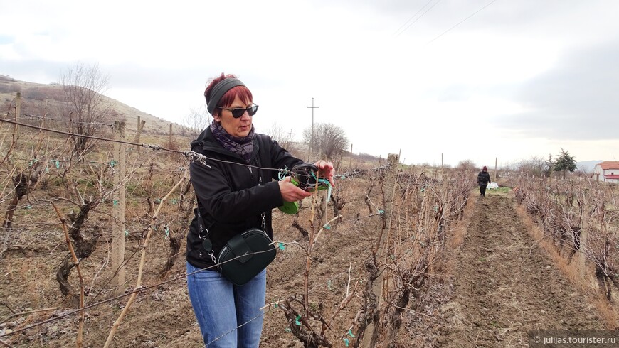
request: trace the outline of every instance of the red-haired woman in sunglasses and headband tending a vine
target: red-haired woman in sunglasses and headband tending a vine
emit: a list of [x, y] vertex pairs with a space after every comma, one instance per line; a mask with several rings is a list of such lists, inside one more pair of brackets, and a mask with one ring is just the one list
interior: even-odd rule
[[[266, 270], [243, 286], [233, 285], [217, 272], [205, 249], [205, 234], [214, 255], [232, 236], [250, 228], [265, 229], [273, 239], [271, 210], [312, 193], [293, 185], [290, 177], [272, 181], [277, 171], [268, 168], [292, 168], [303, 161], [254, 132], [258, 105], [243, 82], [222, 73], [208, 84], [204, 97], [213, 123], [191, 142], [191, 150], [212, 159], [206, 160], [208, 166], [196, 162], [189, 167], [198, 201], [187, 235], [189, 298], [208, 347], [258, 347]], [[333, 183], [332, 163], [315, 165]]]

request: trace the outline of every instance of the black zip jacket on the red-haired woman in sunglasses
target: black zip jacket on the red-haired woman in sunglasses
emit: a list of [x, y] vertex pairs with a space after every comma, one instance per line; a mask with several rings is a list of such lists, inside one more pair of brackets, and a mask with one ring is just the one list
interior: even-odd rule
[[[215, 256], [235, 234], [250, 228], [261, 228], [265, 213], [266, 232], [273, 239], [271, 210], [284, 204], [277, 180], [277, 170], [266, 168], [292, 168], [302, 163], [269, 136], [254, 134], [250, 165], [236, 153], [223, 148], [207, 127], [195, 141], [191, 150], [208, 158], [205, 167], [199, 162], [189, 165], [191, 184], [194, 186], [203, 227], [213, 243]], [[262, 184], [260, 185], [260, 181]], [[187, 234], [187, 261], [199, 268], [213, 266], [211, 256], [202, 246], [199, 235], [197, 211]], [[211, 268], [215, 271], [215, 268]]]

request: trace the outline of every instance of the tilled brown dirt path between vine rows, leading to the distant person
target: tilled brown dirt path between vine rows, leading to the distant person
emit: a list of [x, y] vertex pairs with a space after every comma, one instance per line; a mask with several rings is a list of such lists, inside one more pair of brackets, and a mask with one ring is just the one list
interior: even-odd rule
[[604, 329], [595, 305], [535, 244], [510, 197], [475, 202], [454, 265], [439, 347], [527, 347], [529, 330]]

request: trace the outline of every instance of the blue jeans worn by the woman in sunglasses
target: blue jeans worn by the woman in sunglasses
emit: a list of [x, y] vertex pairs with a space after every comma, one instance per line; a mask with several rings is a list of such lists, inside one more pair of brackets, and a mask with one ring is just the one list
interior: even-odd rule
[[[263, 330], [266, 270], [236, 286], [215, 271], [187, 263], [187, 288], [204, 344], [213, 347], [258, 347]], [[194, 273], [194, 274], [190, 274]]]

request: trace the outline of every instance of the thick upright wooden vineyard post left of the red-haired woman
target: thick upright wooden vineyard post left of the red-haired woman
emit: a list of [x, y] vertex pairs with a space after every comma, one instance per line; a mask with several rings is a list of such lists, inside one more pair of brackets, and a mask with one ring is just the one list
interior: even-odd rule
[[[114, 139], [125, 140], [125, 122], [114, 121]], [[112, 278], [112, 286], [115, 295], [125, 293], [125, 144], [114, 143], [114, 201], [112, 213], [115, 223], [112, 227], [112, 270], [115, 276]]]

